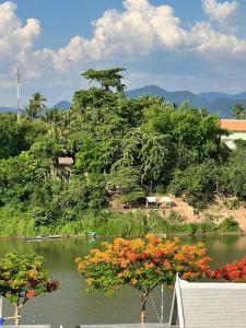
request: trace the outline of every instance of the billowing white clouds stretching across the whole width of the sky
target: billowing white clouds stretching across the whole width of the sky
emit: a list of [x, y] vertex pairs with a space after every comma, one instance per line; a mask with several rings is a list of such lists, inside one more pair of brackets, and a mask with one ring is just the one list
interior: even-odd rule
[[[25, 70], [25, 78], [49, 85], [66, 85], [87, 67], [110, 60], [126, 62], [150, 58], [156, 51], [165, 58], [168, 54], [196, 54], [204, 58], [244, 58], [246, 39], [214, 28], [211, 22], [198, 22], [184, 28], [169, 5], [152, 5], [148, 0], [124, 0], [124, 10], [107, 10], [93, 23], [93, 36], [86, 39], [74, 36], [58, 50], [34, 50], [40, 34], [40, 24], [30, 19], [24, 24], [16, 15], [16, 4], [0, 5], [0, 68]], [[238, 3], [203, 0], [203, 10], [213, 22], [231, 19]], [[43, 81], [43, 82], [42, 82]]]

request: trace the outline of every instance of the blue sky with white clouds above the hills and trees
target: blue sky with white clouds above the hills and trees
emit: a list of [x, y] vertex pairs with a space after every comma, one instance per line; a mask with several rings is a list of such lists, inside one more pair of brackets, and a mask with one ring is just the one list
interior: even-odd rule
[[246, 0], [0, 0], [0, 106], [38, 91], [48, 105], [85, 89], [90, 68], [125, 84], [246, 91]]

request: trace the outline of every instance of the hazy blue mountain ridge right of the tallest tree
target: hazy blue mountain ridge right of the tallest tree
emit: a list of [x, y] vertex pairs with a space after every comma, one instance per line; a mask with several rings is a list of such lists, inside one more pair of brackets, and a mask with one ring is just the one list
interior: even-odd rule
[[246, 105], [246, 92], [237, 95], [229, 95], [221, 92], [207, 92], [195, 94], [189, 91], [166, 91], [157, 85], [148, 85], [126, 92], [128, 97], [138, 98], [142, 95], [162, 96], [171, 103], [180, 105], [188, 101], [195, 107], [204, 107], [213, 114], [220, 115], [222, 118], [232, 117], [233, 105], [243, 102]]

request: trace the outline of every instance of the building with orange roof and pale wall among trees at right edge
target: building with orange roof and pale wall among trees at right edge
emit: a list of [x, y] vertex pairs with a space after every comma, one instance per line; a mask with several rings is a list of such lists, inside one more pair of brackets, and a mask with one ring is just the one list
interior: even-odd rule
[[231, 149], [235, 148], [235, 140], [246, 140], [245, 119], [221, 119], [221, 128], [229, 131], [229, 136], [223, 136], [222, 140]]

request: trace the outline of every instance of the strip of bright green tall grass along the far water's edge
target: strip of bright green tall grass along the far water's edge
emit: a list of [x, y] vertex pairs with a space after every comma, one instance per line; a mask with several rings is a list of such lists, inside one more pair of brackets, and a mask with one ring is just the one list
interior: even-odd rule
[[211, 220], [186, 222], [172, 213], [160, 218], [155, 211], [143, 213], [133, 210], [128, 213], [104, 210], [97, 213], [84, 212], [78, 220], [50, 225], [36, 225], [35, 219], [17, 209], [0, 210], [0, 236], [86, 236], [89, 231], [104, 236], [143, 236], [148, 233], [161, 235], [201, 235], [201, 234], [239, 234], [238, 224], [226, 218], [220, 223]]

